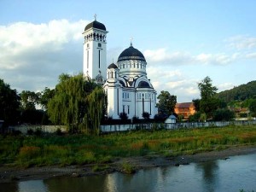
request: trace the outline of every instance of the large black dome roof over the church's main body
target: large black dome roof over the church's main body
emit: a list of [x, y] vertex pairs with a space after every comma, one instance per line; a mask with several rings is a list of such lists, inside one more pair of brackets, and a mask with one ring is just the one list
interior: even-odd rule
[[129, 48], [125, 49], [120, 55], [118, 61], [125, 60], [140, 60], [146, 61], [144, 55], [138, 49], [132, 47], [132, 44]]

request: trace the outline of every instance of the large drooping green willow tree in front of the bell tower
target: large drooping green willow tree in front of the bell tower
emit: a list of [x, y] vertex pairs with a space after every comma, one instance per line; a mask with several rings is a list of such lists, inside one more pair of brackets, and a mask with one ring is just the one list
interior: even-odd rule
[[[102, 87], [85, 80], [83, 74], [61, 74], [59, 84], [55, 86], [55, 96], [48, 103], [49, 119], [55, 125], [67, 125], [71, 132], [91, 132], [99, 127], [104, 101]], [[102, 110], [102, 113], [97, 110]]]

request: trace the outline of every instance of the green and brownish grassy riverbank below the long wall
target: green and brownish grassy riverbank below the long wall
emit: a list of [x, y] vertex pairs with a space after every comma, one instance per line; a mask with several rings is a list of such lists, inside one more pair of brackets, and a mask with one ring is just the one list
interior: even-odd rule
[[256, 126], [177, 131], [131, 131], [102, 136], [0, 136], [0, 164], [69, 166], [108, 164], [123, 157], [166, 157], [255, 145]]

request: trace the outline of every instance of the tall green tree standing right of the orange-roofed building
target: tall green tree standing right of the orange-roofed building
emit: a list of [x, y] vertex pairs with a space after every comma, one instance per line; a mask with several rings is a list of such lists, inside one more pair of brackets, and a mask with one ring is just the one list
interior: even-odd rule
[[206, 77], [198, 84], [200, 90], [200, 110], [212, 118], [213, 112], [220, 106], [220, 100], [216, 97], [217, 88], [212, 85], [212, 79]]

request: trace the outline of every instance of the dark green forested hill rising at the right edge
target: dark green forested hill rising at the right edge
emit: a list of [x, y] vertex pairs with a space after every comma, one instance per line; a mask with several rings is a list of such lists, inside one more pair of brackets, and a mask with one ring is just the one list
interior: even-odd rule
[[256, 81], [247, 84], [241, 84], [231, 90], [224, 90], [217, 94], [218, 98], [224, 102], [232, 102], [234, 100], [244, 101], [256, 97]]

